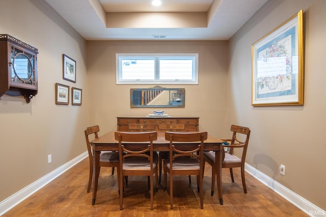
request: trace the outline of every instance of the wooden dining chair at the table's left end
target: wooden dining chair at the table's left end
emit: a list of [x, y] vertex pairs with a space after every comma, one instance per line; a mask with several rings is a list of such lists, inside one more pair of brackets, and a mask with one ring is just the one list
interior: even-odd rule
[[[86, 128], [85, 138], [86, 138], [86, 145], [88, 151], [88, 158], [90, 161], [90, 175], [87, 187], [87, 193], [90, 192], [91, 184], [92, 184], [92, 177], [93, 177], [93, 153], [92, 153], [92, 144], [90, 143], [89, 135], [94, 134], [94, 138], [98, 138], [98, 132], [100, 128], [98, 125], [93, 127]], [[112, 175], [114, 174], [114, 168], [119, 168], [119, 153], [118, 152], [101, 152], [100, 154], [100, 167], [112, 167]], [[119, 170], [119, 169], [117, 169]], [[119, 171], [118, 171], [118, 183], [119, 183]]]

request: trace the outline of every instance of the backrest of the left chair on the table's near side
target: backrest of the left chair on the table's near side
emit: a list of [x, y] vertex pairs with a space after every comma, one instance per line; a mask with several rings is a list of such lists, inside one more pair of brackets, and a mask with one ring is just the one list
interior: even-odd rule
[[157, 132], [115, 132], [115, 139], [119, 141], [121, 168], [125, 158], [144, 157], [153, 169], [153, 141], [157, 139]]

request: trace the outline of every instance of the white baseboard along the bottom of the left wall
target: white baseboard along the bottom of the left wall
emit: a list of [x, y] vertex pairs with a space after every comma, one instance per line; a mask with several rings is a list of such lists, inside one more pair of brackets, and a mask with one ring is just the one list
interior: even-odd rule
[[32, 194], [43, 188], [47, 183], [52, 181], [53, 179], [60, 176], [62, 173], [66, 172], [68, 169], [82, 161], [83, 159], [88, 157], [88, 152], [85, 151], [84, 153], [80, 154], [76, 158], [72, 159], [71, 161], [67, 162], [66, 164], [62, 165], [61, 167], [53, 170], [52, 172], [48, 173], [47, 175], [43, 176], [42, 178], [36, 180], [32, 184], [28, 185], [27, 187], [23, 188], [19, 192], [15, 193], [14, 195], [10, 196], [9, 198], [0, 202], [0, 216], [8, 212], [10, 209], [15, 207], [17, 204], [25, 200], [26, 198], [30, 197]]

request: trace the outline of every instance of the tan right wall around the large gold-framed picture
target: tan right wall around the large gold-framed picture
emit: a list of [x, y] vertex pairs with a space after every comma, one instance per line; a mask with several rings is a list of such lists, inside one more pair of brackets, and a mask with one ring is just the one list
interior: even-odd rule
[[[305, 105], [251, 106], [251, 45], [304, 10]], [[247, 163], [326, 210], [326, 1], [268, 1], [230, 41], [228, 122], [252, 130]], [[285, 165], [285, 176], [279, 166]], [[250, 192], [250, 189], [248, 190]]]

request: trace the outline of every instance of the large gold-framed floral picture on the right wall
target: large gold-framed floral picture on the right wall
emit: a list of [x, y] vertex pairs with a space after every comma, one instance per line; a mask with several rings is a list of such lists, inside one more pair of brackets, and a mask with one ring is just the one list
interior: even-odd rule
[[303, 10], [252, 45], [252, 105], [304, 104]]

